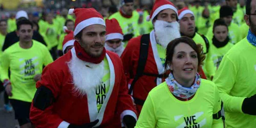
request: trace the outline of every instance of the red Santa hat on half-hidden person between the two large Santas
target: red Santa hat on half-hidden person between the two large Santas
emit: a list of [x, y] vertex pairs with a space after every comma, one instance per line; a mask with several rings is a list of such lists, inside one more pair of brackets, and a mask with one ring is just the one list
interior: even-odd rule
[[106, 19], [106, 41], [112, 39], [124, 39], [122, 28], [116, 19]]

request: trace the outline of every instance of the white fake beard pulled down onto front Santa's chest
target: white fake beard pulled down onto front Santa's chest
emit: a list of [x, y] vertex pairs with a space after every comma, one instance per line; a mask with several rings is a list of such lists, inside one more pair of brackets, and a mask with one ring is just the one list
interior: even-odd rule
[[[90, 68], [89, 68], [90, 67]], [[95, 89], [102, 82], [104, 75], [104, 61], [99, 64], [85, 62], [72, 56], [68, 62], [68, 68], [73, 78], [74, 91], [77, 96], [84, 96]]]

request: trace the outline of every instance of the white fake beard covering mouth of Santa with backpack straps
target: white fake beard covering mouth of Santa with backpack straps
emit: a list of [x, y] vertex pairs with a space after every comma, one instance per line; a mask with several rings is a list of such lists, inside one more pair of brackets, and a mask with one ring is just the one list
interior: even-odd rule
[[156, 34], [156, 42], [164, 48], [174, 39], [180, 37], [180, 24], [175, 22], [166, 22], [163, 20], [156, 20], [154, 23]]

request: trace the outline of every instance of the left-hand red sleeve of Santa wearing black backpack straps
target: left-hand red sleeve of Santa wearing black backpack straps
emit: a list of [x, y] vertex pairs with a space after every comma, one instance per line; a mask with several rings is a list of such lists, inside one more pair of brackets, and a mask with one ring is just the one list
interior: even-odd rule
[[121, 55], [121, 60], [123, 62], [123, 69], [124, 69], [124, 74], [126, 76], [127, 82], [130, 82], [131, 79], [134, 78], [134, 73], [133, 73], [133, 66], [134, 66], [134, 61], [132, 60], [132, 56], [134, 54], [135, 49], [140, 49], [140, 37], [132, 38], [127, 46], [124, 49], [123, 54]]

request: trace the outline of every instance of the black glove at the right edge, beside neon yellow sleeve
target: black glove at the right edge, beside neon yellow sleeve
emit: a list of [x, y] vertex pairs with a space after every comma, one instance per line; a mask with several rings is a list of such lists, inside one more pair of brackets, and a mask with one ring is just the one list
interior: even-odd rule
[[254, 115], [256, 116], [256, 94], [251, 96], [250, 98], [245, 98], [243, 105], [242, 105], [242, 111], [245, 114]]

